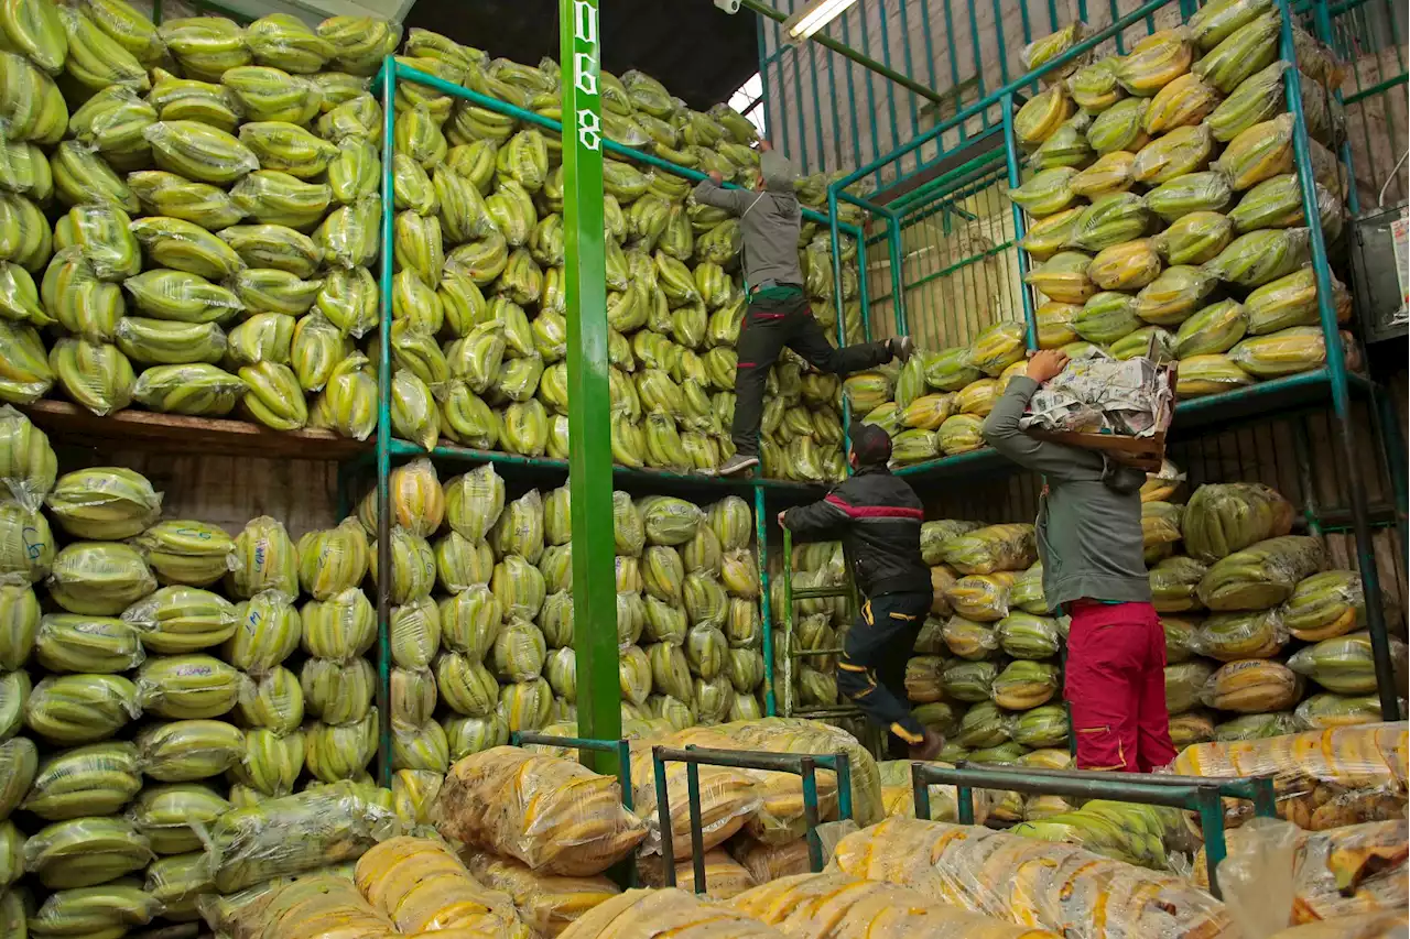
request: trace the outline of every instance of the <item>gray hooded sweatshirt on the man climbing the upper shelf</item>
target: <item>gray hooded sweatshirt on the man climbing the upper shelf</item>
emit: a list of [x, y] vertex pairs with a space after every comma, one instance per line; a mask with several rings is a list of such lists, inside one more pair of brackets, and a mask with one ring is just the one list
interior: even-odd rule
[[725, 189], [709, 179], [695, 186], [695, 202], [739, 216], [744, 233], [744, 279], [750, 288], [768, 282], [802, 286], [798, 231], [802, 209], [792, 188], [788, 158], [768, 151], [760, 161], [764, 190]]

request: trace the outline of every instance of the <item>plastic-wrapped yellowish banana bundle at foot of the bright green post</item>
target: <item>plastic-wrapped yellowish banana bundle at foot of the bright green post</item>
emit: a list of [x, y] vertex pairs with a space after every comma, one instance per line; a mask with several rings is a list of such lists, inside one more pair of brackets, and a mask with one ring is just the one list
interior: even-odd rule
[[434, 818], [447, 837], [567, 876], [602, 873], [647, 835], [622, 808], [616, 780], [512, 747], [457, 763]]

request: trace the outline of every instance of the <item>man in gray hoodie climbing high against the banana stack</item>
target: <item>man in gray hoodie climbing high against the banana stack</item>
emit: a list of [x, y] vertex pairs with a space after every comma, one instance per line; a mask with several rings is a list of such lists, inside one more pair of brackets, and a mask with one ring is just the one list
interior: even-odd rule
[[725, 189], [712, 172], [695, 186], [695, 202], [739, 216], [744, 234], [744, 282], [749, 309], [739, 326], [739, 365], [735, 371], [735, 424], [730, 436], [735, 455], [719, 468], [733, 475], [759, 465], [759, 424], [764, 413], [764, 383], [768, 369], [787, 345], [823, 372], [847, 375], [874, 368], [893, 358], [911, 357], [911, 338], [890, 338], [833, 348], [814, 317], [804, 293], [798, 265], [798, 237], [802, 209], [794, 193], [792, 166], [760, 144], [763, 185], [756, 190]]

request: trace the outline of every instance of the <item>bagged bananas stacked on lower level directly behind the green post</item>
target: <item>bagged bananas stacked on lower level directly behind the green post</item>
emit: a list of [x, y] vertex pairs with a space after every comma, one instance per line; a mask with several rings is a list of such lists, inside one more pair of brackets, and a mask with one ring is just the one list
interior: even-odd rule
[[[391, 482], [396, 768], [444, 774], [515, 730], [571, 723], [568, 488], [508, 499], [488, 464], [441, 486], [429, 460], [399, 467]], [[375, 492], [358, 516], [372, 537]], [[618, 492], [613, 516], [623, 718], [640, 730], [649, 719], [678, 729], [760, 716], [749, 506], [737, 496], [701, 509]]]

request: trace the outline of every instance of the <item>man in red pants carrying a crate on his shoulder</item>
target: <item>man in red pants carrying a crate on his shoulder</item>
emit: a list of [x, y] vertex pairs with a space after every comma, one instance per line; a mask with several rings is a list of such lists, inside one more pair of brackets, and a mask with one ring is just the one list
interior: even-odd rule
[[1029, 437], [1028, 400], [1067, 365], [1042, 351], [984, 422], [984, 440], [1043, 474], [1038, 556], [1052, 610], [1072, 616], [1066, 696], [1083, 770], [1149, 773], [1175, 759], [1165, 706], [1165, 630], [1151, 605], [1141, 537], [1145, 474], [1094, 450]]

